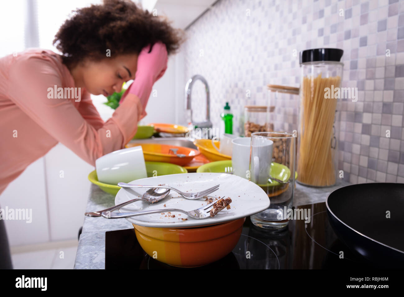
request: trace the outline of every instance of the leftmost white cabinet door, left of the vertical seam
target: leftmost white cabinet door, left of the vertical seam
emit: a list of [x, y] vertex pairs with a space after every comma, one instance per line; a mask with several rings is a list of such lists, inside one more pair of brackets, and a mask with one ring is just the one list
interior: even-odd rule
[[0, 196], [0, 206], [5, 209], [28, 209], [32, 222], [5, 220], [8, 243], [11, 246], [36, 244], [50, 240], [44, 158], [30, 164], [25, 171], [6, 187]]

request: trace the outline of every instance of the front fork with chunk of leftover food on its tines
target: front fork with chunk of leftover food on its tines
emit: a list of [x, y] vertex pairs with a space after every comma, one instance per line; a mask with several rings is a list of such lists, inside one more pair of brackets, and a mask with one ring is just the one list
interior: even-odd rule
[[[224, 197], [224, 196], [223, 196]], [[218, 200], [213, 201], [210, 204], [204, 205], [198, 209], [194, 209], [193, 211], [184, 211], [183, 209], [155, 209], [153, 211], [135, 211], [132, 213], [111, 213], [109, 211], [103, 211], [101, 215], [105, 217], [106, 219], [120, 219], [124, 217], [135, 217], [137, 215], [149, 215], [151, 213], [166, 213], [169, 211], [178, 211], [180, 213], [185, 213], [189, 217], [192, 217], [194, 219], [206, 219], [207, 217], [210, 217], [210, 211], [206, 211], [207, 209], [210, 209], [210, 207], [213, 206]]]

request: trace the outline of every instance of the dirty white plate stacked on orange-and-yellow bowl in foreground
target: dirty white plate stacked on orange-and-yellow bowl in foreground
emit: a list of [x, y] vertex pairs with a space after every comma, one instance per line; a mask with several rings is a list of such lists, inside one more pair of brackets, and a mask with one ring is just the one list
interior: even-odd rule
[[[245, 217], [269, 207], [269, 199], [255, 183], [226, 173], [180, 173], [148, 177], [132, 181], [134, 184], [166, 184], [183, 192], [199, 192], [220, 184], [219, 190], [208, 197], [231, 198], [230, 209], [223, 209], [215, 217], [194, 219], [184, 213], [166, 213], [164, 209], [196, 209], [210, 202], [208, 197], [187, 200], [174, 192], [160, 202], [144, 201], [123, 206], [119, 212], [163, 209], [161, 213], [127, 217], [133, 224], [139, 244], [154, 259], [179, 267], [202, 266], [217, 261], [236, 246]], [[139, 198], [147, 188], [122, 188], [115, 197], [115, 205]], [[212, 247], [215, 248], [212, 248]]]

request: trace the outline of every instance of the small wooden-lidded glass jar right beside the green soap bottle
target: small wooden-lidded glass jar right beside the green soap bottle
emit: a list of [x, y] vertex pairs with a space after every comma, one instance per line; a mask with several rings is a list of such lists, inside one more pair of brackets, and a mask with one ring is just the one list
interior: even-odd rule
[[266, 105], [244, 106], [244, 136], [251, 137], [254, 132], [274, 131], [274, 124], [269, 122], [274, 109], [275, 106]]

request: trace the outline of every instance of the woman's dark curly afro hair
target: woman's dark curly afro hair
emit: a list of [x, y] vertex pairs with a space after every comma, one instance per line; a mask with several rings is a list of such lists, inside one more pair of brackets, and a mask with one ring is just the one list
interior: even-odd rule
[[185, 40], [183, 30], [174, 29], [165, 17], [154, 16], [130, 0], [104, 0], [73, 12], [53, 40], [69, 68], [85, 59], [100, 61], [107, 49], [111, 57], [139, 54], [157, 41], [166, 45], [170, 55]]

